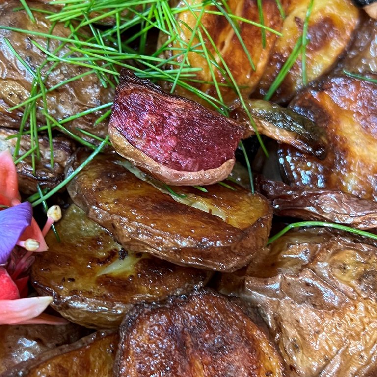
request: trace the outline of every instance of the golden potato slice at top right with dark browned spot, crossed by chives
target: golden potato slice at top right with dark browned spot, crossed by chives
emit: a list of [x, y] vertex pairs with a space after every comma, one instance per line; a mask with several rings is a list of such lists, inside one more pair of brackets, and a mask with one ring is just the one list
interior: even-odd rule
[[[292, 0], [280, 37], [253, 97], [262, 98], [277, 77], [300, 36], [310, 0]], [[306, 73], [310, 82], [330, 70], [349, 44], [359, 17], [351, 0], [315, 0], [309, 18]], [[287, 103], [303, 87], [302, 56], [299, 55], [272, 101]]]

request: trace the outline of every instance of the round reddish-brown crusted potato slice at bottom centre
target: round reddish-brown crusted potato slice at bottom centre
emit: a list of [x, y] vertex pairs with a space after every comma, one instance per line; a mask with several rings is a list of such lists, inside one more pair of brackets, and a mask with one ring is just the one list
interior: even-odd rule
[[283, 376], [266, 335], [226, 297], [195, 292], [125, 317], [118, 377]]

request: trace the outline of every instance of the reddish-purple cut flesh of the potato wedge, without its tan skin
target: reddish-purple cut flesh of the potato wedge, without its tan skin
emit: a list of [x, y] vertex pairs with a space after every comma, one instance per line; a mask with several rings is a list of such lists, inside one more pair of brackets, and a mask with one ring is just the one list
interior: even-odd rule
[[126, 74], [109, 127], [154, 161], [178, 171], [214, 169], [234, 158], [243, 128], [196, 102]]

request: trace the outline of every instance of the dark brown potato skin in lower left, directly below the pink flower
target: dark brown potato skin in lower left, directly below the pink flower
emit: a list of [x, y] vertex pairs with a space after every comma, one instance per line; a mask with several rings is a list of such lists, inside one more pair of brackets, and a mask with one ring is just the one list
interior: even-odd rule
[[42, 352], [79, 340], [88, 331], [76, 324], [51, 326], [2, 325], [0, 326], [0, 373], [22, 361], [37, 357]]

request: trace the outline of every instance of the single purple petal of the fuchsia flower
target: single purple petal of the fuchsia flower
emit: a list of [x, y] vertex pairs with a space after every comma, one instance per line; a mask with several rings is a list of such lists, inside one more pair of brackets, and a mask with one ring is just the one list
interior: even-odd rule
[[33, 211], [29, 202], [0, 211], [0, 264], [5, 263], [25, 228], [30, 225]]

